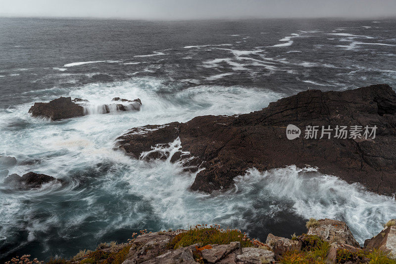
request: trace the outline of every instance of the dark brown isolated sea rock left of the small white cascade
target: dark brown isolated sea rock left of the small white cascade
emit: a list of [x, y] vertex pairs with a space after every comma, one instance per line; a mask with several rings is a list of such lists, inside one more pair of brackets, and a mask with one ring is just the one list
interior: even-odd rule
[[70, 97], [60, 97], [49, 103], [34, 103], [29, 113], [33, 116], [45, 116], [51, 120], [59, 120], [84, 115], [84, 107], [71, 101]]

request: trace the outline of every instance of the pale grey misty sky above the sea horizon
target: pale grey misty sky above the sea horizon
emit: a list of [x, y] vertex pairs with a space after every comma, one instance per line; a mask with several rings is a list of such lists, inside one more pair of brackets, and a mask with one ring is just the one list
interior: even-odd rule
[[396, 0], [0, 0], [0, 15], [159, 20], [396, 17]]

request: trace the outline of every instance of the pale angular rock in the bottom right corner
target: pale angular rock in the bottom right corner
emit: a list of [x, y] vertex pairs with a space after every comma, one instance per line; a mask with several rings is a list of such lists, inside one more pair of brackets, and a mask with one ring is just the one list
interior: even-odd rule
[[[396, 219], [392, 219], [395, 221]], [[396, 225], [386, 226], [378, 235], [364, 241], [365, 250], [379, 249], [396, 259]]]

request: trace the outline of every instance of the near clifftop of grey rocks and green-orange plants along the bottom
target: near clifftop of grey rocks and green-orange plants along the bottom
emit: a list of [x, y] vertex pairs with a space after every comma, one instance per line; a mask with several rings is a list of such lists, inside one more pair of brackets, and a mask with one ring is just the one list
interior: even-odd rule
[[[51, 258], [49, 264], [395, 264], [396, 220], [384, 224], [375, 237], [361, 247], [345, 222], [309, 219], [307, 232], [290, 238], [268, 234], [265, 243], [250, 239], [238, 229], [220, 225], [196, 225], [188, 230], [164, 230], [132, 234], [125, 243], [101, 243], [80, 250], [71, 259]], [[29, 255], [6, 264], [44, 263]], [[26, 262], [20, 262], [26, 261]]]

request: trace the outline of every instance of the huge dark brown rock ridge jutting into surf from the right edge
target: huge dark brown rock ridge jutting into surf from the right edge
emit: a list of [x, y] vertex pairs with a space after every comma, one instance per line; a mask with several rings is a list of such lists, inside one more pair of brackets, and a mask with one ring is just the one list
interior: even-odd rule
[[[191, 187], [204, 192], [233, 186], [234, 177], [251, 167], [263, 171], [308, 164], [391, 195], [396, 189], [396, 149], [390, 147], [396, 145], [395, 113], [396, 94], [385, 84], [344, 92], [310, 90], [248, 114], [198, 116], [187, 123], [134, 128], [117, 139], [117, 147], [139, 158], [151, 147], [179, 137], [182, 151], [205, 168]], [[287, 139], [289, 124], [302, 130], [299, 138]], [[304, 138], [308, 125], [320, 127], [316, 139]], [[336, 138], [337, 125], [377, 126], [376, 137]], [[322, 126], [333, 129], [330, 139], [319, 139]]]

